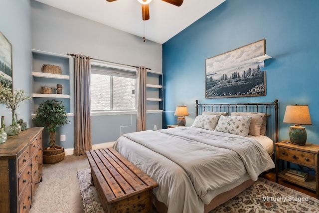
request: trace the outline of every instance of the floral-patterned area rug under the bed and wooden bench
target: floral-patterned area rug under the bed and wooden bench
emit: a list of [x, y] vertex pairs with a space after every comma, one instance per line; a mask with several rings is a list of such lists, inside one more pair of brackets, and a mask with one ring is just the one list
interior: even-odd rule
[[[95, 187], [90, 186], [90, 168], [77, 173], [84, 212], [104, 213]], [[253, 186], [210, 213], [319, 213], [319, 200], [259, 178]]]

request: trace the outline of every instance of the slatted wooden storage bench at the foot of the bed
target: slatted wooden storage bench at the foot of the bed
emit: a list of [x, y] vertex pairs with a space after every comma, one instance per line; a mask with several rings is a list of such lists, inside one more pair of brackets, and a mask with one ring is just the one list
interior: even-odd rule
[[86, 152], [105, 213], [153, 213], [158, 183], [113, 148]]

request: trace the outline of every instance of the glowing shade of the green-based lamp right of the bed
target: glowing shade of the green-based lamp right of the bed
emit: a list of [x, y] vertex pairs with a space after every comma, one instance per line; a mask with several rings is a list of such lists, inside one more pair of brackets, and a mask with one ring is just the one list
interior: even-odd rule
[[308, 105], [287, 105], [284, 123], [311, 125]]

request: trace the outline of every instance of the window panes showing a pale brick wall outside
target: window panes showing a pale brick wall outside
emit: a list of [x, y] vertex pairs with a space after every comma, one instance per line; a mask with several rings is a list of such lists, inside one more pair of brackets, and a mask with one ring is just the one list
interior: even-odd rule
[[[134, 110], [135, 79], [113, 76], [113, 109]], [[91, 73], [91, 110], [111, 110], [111, 76]]]

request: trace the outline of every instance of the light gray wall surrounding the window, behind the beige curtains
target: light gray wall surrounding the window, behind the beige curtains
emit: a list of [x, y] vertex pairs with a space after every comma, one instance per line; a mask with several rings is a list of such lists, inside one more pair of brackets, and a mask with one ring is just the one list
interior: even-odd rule
[[[94, 12], [94, 11], [92, 11]], [[101, 23], [31, 0], [32, 48], [47, 52], [79, 53], [91, 58], [143, 65], [162, 72], [162, 46], [105, 26]], [[30, 53], [29, 53], [30, 54]], [[30, 72], [30, 70], [27, 70]], [[71, 98], [74, 98], [71, 94]], [[57, 132], [57, 144], [74, 147], [74, 119]], [[161, 113], [147, 115], [147, 127], [162, 126]], [[121, 134], [136, 131], [136, 115], [92, 116], [92, 143], [115, 141]], [[59, 134], [66, 142], [59, 142]]]

